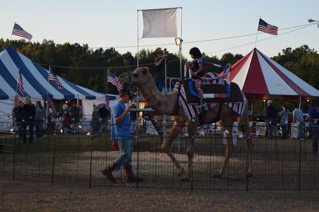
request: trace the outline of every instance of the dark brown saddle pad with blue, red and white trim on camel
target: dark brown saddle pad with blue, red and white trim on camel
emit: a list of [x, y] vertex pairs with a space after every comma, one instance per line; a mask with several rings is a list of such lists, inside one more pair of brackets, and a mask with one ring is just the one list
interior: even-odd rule
[[[202, 84], [201, 88], [204, 93], [206, 103], [243, 103], [244, 97], [239, 86], [230, 82], [226, 83], [208, 83]], [[207, 83], [207, 82], [206, 82]], [[185, 91], [185, 99], [189, 105], [197, 105], [200, 102], [198, 93], [195, 88], [195, 83], [192, 80], [186, 80], [182, 83], [183, 90]]]

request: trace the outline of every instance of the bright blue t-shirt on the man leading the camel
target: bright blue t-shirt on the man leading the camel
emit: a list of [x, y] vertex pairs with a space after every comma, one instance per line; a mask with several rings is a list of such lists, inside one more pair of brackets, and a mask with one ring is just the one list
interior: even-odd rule
[[120, 123], [115, 124], [114, 122], [114, 118], [119, 117], [122, 113], [124, 113], [125, 109], [126, 107], [122, 102], [117, 102], [113, 106], [111, 119], [111, 140], [133, 138], [133, 132], [130, 126], [131, 120], [129, 113], [126, 114], [125, 118]]

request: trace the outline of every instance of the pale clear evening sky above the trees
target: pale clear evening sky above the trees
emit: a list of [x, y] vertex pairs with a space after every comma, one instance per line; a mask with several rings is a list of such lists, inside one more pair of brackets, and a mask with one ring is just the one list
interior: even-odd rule
[[[121, 54], [130, 51], [132, 55], [137, 52], [137, 45], [139, 49], [164, 47], [170, 53], [177, 53], [179, 46], [174, 38], [141, 38], [141, 10], [182, 7], [177, 9], [177, 37], [183, 39], [182, 54], [187, 58], [192, 47], [198, 47], [210, 57], [221, 58], [227, 52], [248, 54], [255, 48], [260, 16], [268, 24], [278, 27], [278, 36], [261, 31], [257, 36], [257, 41], [262, 41], [256, 43], [256, 48], [273, 57], [283, 49], [295, 49], [304, 44], [319, 50], [317, 25], [305, 27], [310, 24], [308, 19], [319, 20], [318, 6], [319, 1], [300, 0], [4, 1], [1, 3], [0, 38], [10, 39], [16, 22], [33, 35], [32, 42], [51, 39], [56, 44], [88, 44], [93, 50], [114, 47]], [[12, 35], [11, 39], [21, 37]]]

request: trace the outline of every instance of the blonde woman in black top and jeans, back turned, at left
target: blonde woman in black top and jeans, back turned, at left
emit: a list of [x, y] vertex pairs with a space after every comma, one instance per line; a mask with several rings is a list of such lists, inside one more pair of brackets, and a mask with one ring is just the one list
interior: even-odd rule
[[33, 127], [34, 127], [34, 115], [35, 115], [35, 106], [31, 101], [31, 98], [26, 96], [24, 98], [24, 105], [19, 106], [19, 112], [24, 111], [24, 122], [23, 122], [23, 136], [22, 142], [26, 143], [26, 127], [29, 126], [29, 143], [33, 143]]

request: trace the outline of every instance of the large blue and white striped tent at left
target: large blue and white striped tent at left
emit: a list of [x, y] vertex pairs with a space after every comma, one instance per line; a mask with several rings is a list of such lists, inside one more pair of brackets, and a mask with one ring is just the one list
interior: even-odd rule
[[[19, 66], [25, 94], [17, 91]], [[21, 97], [46, 99], [48, 93], [52, 99], [78, 99], [105, 102], [107, 94], [95, 92], [90, 89], [75, 85], [58, 77], [64, 89], [59, 90], [54, 81], [49, 81], [49, 72], [40, 65], [22, 55], [11, 46], [6, 46], [0, 51], [0, 115], [11, 114], [15, 105], [16, 94]], [[109, 96], [109, 95], [108, 95]], [[115, 96], [109, 96], [114, 100]], [[83, 105], [84, 106], [84, 105]], [[92, 106], [93, 107], [93, 106]], [[92, 110], [91, 110], [92, 114]]]

